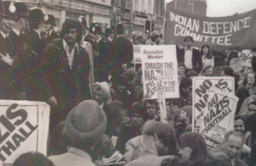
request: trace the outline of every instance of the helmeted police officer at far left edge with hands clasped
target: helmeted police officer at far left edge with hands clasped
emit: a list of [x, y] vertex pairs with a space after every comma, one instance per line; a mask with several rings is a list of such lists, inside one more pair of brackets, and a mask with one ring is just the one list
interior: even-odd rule
[[18, 57], [14, 55], [9, 33], [14, 28], [16, 7], [11, 1], [0, 3], [0, 99], [13, 100], [17, 96], [17, 78], [15, 76]]

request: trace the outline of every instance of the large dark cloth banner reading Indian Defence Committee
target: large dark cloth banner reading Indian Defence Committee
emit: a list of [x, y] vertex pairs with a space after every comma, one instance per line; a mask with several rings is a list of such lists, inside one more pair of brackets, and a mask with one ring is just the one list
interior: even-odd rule
[[164, 44], [184, 45], [188, 35], [193, 46], [208, 44], [213, 50], [251, 49], [256, 43], [256, 9], [228, 17], [204, 17], [166, 6]]

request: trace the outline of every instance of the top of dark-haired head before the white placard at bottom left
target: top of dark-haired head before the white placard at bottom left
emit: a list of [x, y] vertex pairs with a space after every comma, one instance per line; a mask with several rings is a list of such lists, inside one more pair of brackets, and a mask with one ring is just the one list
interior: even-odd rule
[[54, 166], [51, 160], [43, 154], [37, 152], [28, 152], [20, 155], [12, 164], [13, 166]]

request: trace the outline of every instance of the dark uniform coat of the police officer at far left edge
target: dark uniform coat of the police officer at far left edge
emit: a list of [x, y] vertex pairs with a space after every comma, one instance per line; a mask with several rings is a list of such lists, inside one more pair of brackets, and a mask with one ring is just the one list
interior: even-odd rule
[[9, 54], [13, 65], [9, 66], [0, 58], [0, 99], [17, 99], [17, 75], [16, 69], [19, 63], [18, 56], [14, 54], [9, 39], [4, 39], [0, 34], [0, 53], [4, 56]]

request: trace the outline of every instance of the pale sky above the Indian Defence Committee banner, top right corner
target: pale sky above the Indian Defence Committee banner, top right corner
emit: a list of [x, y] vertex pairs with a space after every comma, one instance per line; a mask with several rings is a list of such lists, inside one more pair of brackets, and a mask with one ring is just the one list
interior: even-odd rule
[[[170, 2], [173, 0], [166, 0]], [[256, 9], [256, 0], [207, 0], [206, 16], [225, 17]]]

